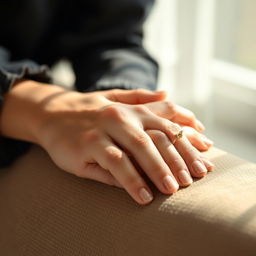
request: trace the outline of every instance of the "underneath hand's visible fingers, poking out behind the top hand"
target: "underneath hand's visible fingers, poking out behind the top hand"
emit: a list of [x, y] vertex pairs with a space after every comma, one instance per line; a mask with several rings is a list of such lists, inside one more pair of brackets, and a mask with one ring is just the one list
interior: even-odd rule
[[213, 145], [213, 141], [202, 134], [205, 130], [203, 124], [192, 111], [167, 101], [166, 95], [165, 91], [159, 91], [156, 94], [144, 89], [106, 91], [107, 98], [112, 101], [127, 104], [144, 104], [154, 114], [179, 124], [183, 127], [184, 134], [196, 149], [207, 151]]

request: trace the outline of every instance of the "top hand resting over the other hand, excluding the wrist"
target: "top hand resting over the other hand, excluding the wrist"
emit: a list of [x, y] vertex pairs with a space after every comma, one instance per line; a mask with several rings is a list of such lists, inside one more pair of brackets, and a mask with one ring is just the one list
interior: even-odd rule
[[202, 155], [186, 138], [172, 145], [177, 124], [107, 94], [68, 92], [47, 103], [39, 144], [60, 168], [123, 187], [139, 204], [149, 203], [152, 192], [129, 155], [165, 194], [189, 185], [191, 175], [206, 175]]

